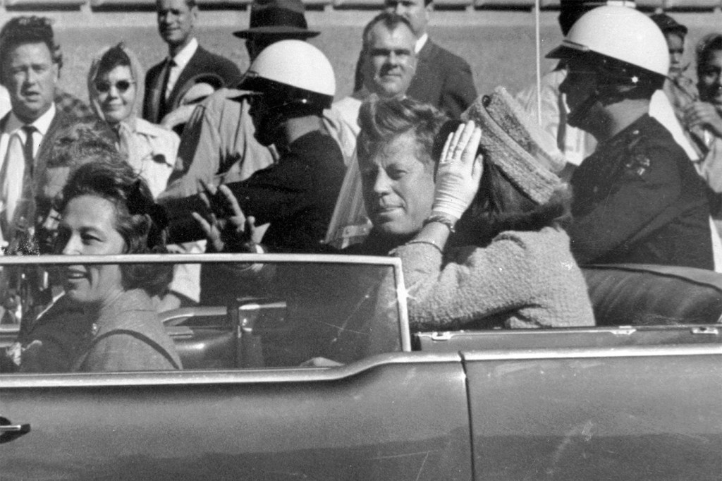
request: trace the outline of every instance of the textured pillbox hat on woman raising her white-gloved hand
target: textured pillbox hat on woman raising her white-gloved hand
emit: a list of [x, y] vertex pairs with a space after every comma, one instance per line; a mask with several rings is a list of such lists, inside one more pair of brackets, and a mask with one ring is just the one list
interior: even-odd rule
[[546, 203], [562, 181], [554, 173], [565, 158], [551, 135], [541, 129], [504, 87], [479, 97], [461, 115], [482, 129], [479, 147], [486, 160], [537, 204]]

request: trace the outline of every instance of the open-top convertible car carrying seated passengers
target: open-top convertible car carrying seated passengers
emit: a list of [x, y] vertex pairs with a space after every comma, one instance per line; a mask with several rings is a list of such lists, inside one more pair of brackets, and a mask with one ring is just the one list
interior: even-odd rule
[[15, 479], [720, 480], [722, 280], [584, 269], [596, 326], [410, 332], [398, 259], [2, 257], [0, 345], [61, 264], [173, 263], [181, 371], [0, 375]]

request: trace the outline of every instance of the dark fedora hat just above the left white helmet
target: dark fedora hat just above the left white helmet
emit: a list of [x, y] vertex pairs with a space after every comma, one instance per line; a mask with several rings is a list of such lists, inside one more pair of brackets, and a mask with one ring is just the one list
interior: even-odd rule
[[283, 35], [287, 38], [316, 37], [308, 30], [301, 0], [255, 0], [251, 4], [251, 21], [247, 30], [233, 32], [238, 38], [257, 35]]

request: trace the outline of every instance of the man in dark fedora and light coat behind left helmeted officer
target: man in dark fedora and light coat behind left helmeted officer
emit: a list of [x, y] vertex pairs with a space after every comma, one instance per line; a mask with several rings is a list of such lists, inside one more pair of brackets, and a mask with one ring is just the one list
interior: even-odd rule
[[[256, 0], [248, 29], [233, 35], [245, 40], [253, 62], [271, 43], [305, 40], [318, 33], [308, 30], [300, 0]], [[274, 149], [253, 136], [248, 94], [232, 87], [221, 89], [196, 107], [183, 129], [175, 170], [161, 199], [196, 194], [199, 180], [242, 181], [274, 162]]]

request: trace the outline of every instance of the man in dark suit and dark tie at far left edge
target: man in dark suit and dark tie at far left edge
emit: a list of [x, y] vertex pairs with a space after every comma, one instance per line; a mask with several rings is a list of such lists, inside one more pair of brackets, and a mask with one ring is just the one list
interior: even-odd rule
[[51, 21], [16, 17], [0, 31], [0, 82], [12, 110], [0, 119], [0, 242], [32, 235], [35, 196], [53, 135], [77, 119], [56, 108], [53, 97], [61, 54]]

